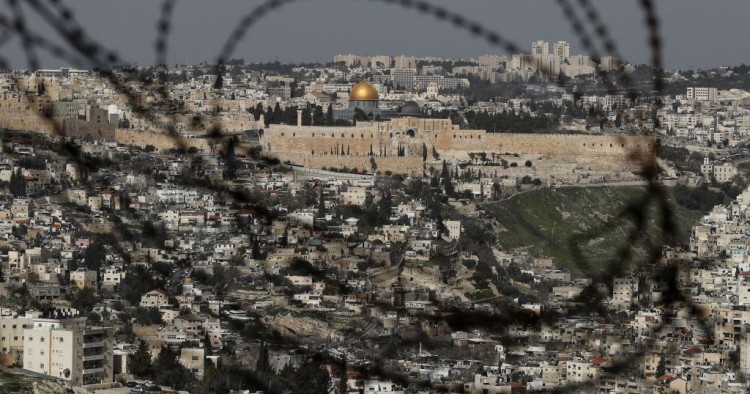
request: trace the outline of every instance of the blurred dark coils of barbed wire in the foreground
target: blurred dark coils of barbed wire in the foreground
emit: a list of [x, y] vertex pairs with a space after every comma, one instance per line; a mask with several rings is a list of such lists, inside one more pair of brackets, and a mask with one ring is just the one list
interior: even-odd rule
[[[427, 1], [421, 0], [370, 0], [375, 3], [382, 3], [385, 5], [392, 5], [401, 7], [404, 9], [413, 10], [423, 16], [430, 17], [441, 23], [446, 23], [453, 26], [457, 30], [464, 31], [471, 36], [483, 40], [494, 47], [498, 47], [508, 53], [515, 53], [520, 51], [520, 47], [515, 43], [507, 40], [499, 33], [492, 31], [484, 25], [472, 21], [465, 16], [450, 11], [444, 7], [433, 5]], [[247, 14], [245, 14], [237, 26], [232, 30], [230, 35], [227, 37], [224, 44], [220, 47], [219, 54], [217, 56], [217, 79], [214, 84], [214, 89], [220, 92], [223, 88], [223, 75], [225, 67], [232, 54], [236, 50], [238, 44], [244, 39], [247, 33], [257, 25], [257, 23], [268, 17], [273, 11], [276, 11], [283, 6], [291, 5], [295, 0], [268, 0], [260, 5], [252, 8]], [[174, 145], [178, 149], [186, 150], [187, 144], [185, 143], [184, 137], [179, 135], [175, 129], [175, 120], [177, 119], [177, 113], [170, 113], [170, 122], [164, 125], [157, 119], [157, 116], [152, 114], [150, 109], [158, 108], [159, 106], [166, 105], [170, 99], [169, 90], [166, 81], [160, 81], [157, 85], [155, 81], [139, 81], [141, 86], [145, 89], [155, 89], [159, 93], [159, 98], [155, 103], [146, 104], [142, 102], [135, 91], [130, 89], [127, 84], [119, 80], [115, 73], [111, 72], [110, 69], [122, 62], [122, 59], [117, 55], [116, 51], [105, 48], [101, 44], [98, 44], [93, 38], [89, 37], [82, 26], [76, 22], [73, 12], [66, 7], [63, 2], [59, 0], [49, 0], [49, 6], [43, 4], [39, 0], [28, 0], [25, 4], [28, 4], [43, 20], [45, 20], [53, 29], [60, 35], [60, 38], [70, 48], [64, 48], [58, 44], [51, 42], [35, 33], [26, 24], [26, 18], [24, 17], [24, 9], [19, 5], [16, 0], [7, 0], [7, 4], [10, 6], [11, 16], [0, 15], [0, 27], [4, 30], [0, 34], [0, 45], [12, 39], [16, 36], [20, 38], [24, 46], [24, 52], [26, 55], [26, 62], [30, 69], [38, 69], [39, 57], [37, 49], [43, 50], [50, 53], [52, 56], [65, 60], [66, 62], [82, 68], [95, 68], [98, 69], [100, 75], [106, 79], [119, 94], [123, 94], [128, 104], [133, 108], [133, 112], [142, 117], [145, 121], [154, 125], [161, 126], [166, 130], [169, 138], [174, 142]], [[620, 58], [617, 45], [614, 39], [610, 36], [606, 25], [599, 16], [595, 7], [589, 0], [578, 0], [580, 10], [585, 15], [585, 20], [578, 17], [576, 14], [576, 7], [568, 0], [557, 0], [558, 5], [563, 10], [565, 18], [571, 24], [574, 33], [578, 36], [581, 41], [584, 50], [591, 56], [592, 59], [601, 59], [600, 52], [596, 48], [594, 39], [599, 39], [601, 45], [610, 56]], [[175, 8], [176, 1], [165, 0], [162, 2], [160, 9], [160, 17], [157, 21], [156, 32], [157, 37], [154, 41], [154, 50], [156, 54], [156, 65], [165, 65], [167, 59], [167, 40], [169, 33], [171, 32], [173, 11]], [[643, 12], [645, 25], [648, 29], [649, 47], [651, 50], [651, 67], [653, 69], [653, 90], [655, 92], [656, 100], [654, 105], [659, 108], [661, 102], [658, 98], [664, 91], [664, 82], [662, 80], [662, 41], [659, 35], [659, 20], [655, 6], [652, 1], [641, 0], [639, 6]], [[589, 24], [593, 33], [589, 33], [586, 28], [586, 23]], [[71, 51], [72, 50], [72, 51]], [[8, 69], [9, 64], [6, 59], [0, 58], [0, 67]], [[543, 66], [539, 69], [540, 75], [546, 78], [554, 79], [556, 76], [551, 75], [551, 69]], [[597, 70], [597, 75], [601, 77], [608, 87], [609, 92], [613, 92], [616, 87], [608, 75], [601, 73]], [[627, 74], [620, 76], [619, 82], [625, 89], [628, 90], [628, 95], [631, 99], [634, 97], [635, 90], [632, 87], [632, 80]], [[202, 116], [200, 117], [202, 120]], [[58, 137], [64, 138], [64, 130], [54, 121], [51, 114], [45, 114], [45, 119], [52, 125], [54, 134]], [[654, 129], [658, 125], [658, 119], [656, 116], [653, 119]], [[224, 135], [221, 130], [221, 125], [218, 123], [211, 132], [208, 134], [208, 138], [222, 141], [227, 139], [228, 136]], [[229, 140], [227, 144], [235, 144], [232, 140]], [[68, 145], [66, 145], [68, 146]], [[236, 145], [234, 149], [239, 149], [246, 155], [263, 160], [268, 164], [277, 165], [279, 164], [278, 159], [268, 157], [266, 155], [258, 155], [250, 146]], [[92, 166], [91, 163], [86, 163], [80, 155], [80, 150], [68, 146], [67, 153], [69, 157], [79, 162], [80, 164], [88, 166], [92, 170], [98, 168]], [[655, 152], [653, 153], [655, 155]], [[633, 227], [628, 233], [626, 239], [627, 242], [621, 247], [621, 249], [612, 256], [610, 263], [608, 264], [608, 270], [605, 275], [596, 278], [588, 289], [593, 289], [597, 284], [607, 283], [613, 278], [627, 274], [627, 268], [630, 263], [624, 264], [623, 262], [633, 262], [637, 264], [638, 268], [641, 267], [653, 267], [660, 258], [661, 243], [664, 241], [671, 241], [675, 237], [675, 224], [674, 214], [671, 208], [671, 204], [668, 201], [666, 191], [658, 185], [658, 171], [656, 167], [655, 156], [648, 157], [639, 163], [642, 167], [643, 178], [647, 181], [647, 190], [644, 196], [639, 200], [631, 202], [623, 211], [621, 211], [615, 219], [606, 222], [601, 227], [598, 227], [592, 231], [583, 233], [579, 236], [571, 238], [570, 250], [574, 255], [574, 262], [586, 269], [592, 268], [592, 263], [588, 261], [583, 255], [580, 244], [583, 240], [592, 239], [593, 237], [600, 236], [602, 233], [607, 231], [613, 231], [615, 225], [619, 223], [631, 223]], [[227, 182], [210, 181], [203, 184], [209, 190], [227, 193], [231, 198], [236, 201], [249, 204], [257, 210], [262, 217], [271, 217], [272, 214], [268, 207], [262, 205], [260, 201], [253, 200], [252, 196], [245, 190], [239, 190], [234, 188]], [[659, 229], [661, 233], [661, 242], [653, 243], [646, 233], [647, 228], [647, 215], [650, 206], [657, 208], [657, 212], [660, 215]], [[121, 229], [122, 231], [128, 231], [127, 228]], [[634, 256], [633, 251], [638, 245], [643, 245], [646, 250], [646, 256], [640, 259], [638, 262]], [[399, 272], [401, 274], [402, 272]], [[692, 303], [692, 300], [685, 297], [678, 286], [677, 269], [663, 269], [657, 273], [656, 277], [653, 278], [657, 283], [666, 286], [667, 291], [665, 292], [662, 306], [667, 311], [675, 308], [687, 307], [690, 315], [698, 320], [699, 323], [703, 324], [703, 320], [699, 319], [699, 313], [697, 312], [696, 306]], [[343, 285], [342, 283], [333, 283], [337, 285]], [[596, 294], [587, 292], [587, 294]], [[598, 302], [600, 299], [585, 300], [587, 302]], [[538, 326], [541, 323], [554, 324], [557, 319], [555, 317], [529, 317], [518, 313], [513, 313], [512, 309], [501, 311], [500, 313], [485, 313], [485, 312], [473, 312], [473, 311], [461, 311], [455, 315], [454, 318], [447, 318], [446, 321], [452, 323], [452, 327], [465, 326], [465, 327], [484, 327], [490, 330], [497, 330], [501, 326], [509, 324], [526, 324], [532, 326]], [[601, 311], [601, 316], [606, 313]], [[430, 316], [423, 316], [425, 319], [434, 318]], [[663, 329], [668, 327], [667, 319], [663, 319], [662, 323], [659, 324], [655, 332], [662, 332]], [[655, 343], [656, 335], [647, 342], [646, 348], [652, 346]], [[616, 362], [611, 371], [616, 372], [624, 370], [627, 367], [632, 367], [635, 363], [641, 361], [644, 352], [634, 353], [633, 355], [621, 359]], [[331, 359], [332, 362], [337, 362], [336, 359]], [[341, 360], [338, 360], [339, 362]], [[373, 373], [380, 374], [381, 376], [394, 376], [394, 379], [398, 381], [407, 382], [408, 379], [395, 373], [395, 371], [389, 371], [382, 366], [375, 368], [377, 371]], [[559, 391], [575, 390], [577, 388], [584, 387], [583, 385], [570, 385], [561, 388]]]

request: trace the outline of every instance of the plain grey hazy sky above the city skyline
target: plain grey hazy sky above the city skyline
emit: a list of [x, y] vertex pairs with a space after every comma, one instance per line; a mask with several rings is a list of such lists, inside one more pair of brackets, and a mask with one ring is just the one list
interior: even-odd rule
[[[572, 53], [583, 52], [568, 21], [553, 0], [433, 0], [498, 32], [525, 51], [530, 42], [566, 40]], [[578, 4], [577, 0], [569, 0]], [[23, 2], [22, 2], [23, 3]], [[47, 4], [46, 2], [44, 2]], [[139, 64], [155, 61], [154, 39], [161, 1], [67, 1], [89, 36], [121, 58]], [[167, 61], [215, 61], [219, 48], [244, 14], [259, 0], [178, 0], [172, 18]], [[593, 1], [617, 42], [620, 54], [633, 63], [650, 61], [644, 17], [636, 0]], [[750, 63], [750, 1], [656, 1], [670, 69], [705, 68]], [[0, 6], [9, 15], [7, 3]], [[27, 8], [28, 19], [42, 33], [52, 31]], [[582, 13], [579, 11], [581, 18]], [[338, 53], [475, 57], [503, 54], [445, 22], [400, 6], [368, 0], [302, 0], [272, 11], [237, 46], [234, 57], [248, 61], [330, 61]], [[14, 67], [27, 67], [20, 41], [0, 54]], [[42, 55], [44, 67], [66, 66]]]

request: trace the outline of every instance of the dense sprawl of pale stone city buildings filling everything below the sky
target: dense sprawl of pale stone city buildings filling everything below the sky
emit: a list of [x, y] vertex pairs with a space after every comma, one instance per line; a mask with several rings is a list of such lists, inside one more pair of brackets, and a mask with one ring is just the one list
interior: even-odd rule
[[[750, 86], [711, 86], [750, 68], [661, 97], [602, 72], [650, 75], [562, 41], [0, 74], [0, 364], [103, 392], [747, 392]], [[654, 152], [683, 233], [582, 266], [552, 246], [603, 238], [560, 209], [504, 246], [499, 204], [646, 194]]]

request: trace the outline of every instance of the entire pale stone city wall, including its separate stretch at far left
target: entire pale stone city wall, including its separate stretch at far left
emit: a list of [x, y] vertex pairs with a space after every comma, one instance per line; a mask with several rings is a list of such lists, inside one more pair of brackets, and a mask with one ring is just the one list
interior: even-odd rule
[[[0, 103], [2, 105], [2, 103]], [[46, 103], [37, 103], [37, 106]], [[32, 109], [33, 108], [33, 109]], [[52, 123], [55, 122], [55, 123]], [[0, 127], [32, 130], [54, 135], [55, 125], [65, 135], [78, 138], [117, 141], [139, 147], [153, 145], [159, 150], [178, 146], [164, 133], [118, 129], [111, 124], [97, 124], [76, 119], [55, 119], [40, 115], [36, 106], [5, 103], [0, 107]], [[258, 127], [245, 118], [230, 120], [230, 129]], [[226, 130], [226, 125], [222, 125]], [[183, 146], [209, 151], [207, 140], [183, 138]], [[360, 123], [356, 127], [318, 127], [271, 125], [261, 137], [266, 154], [279, 160], [312, 168], [372, 169], [371, 158], [380, 171], [418, 174], [422, 155], [427, 150], [432, 160], [433, 148], [442, 158], [467, 159], [469, 153], [535, 154], [564, 162], [586, 163], [592, 170], [637, 169], [644, 158], [650, 158], [656, 138], [650, 136], [594, 136], [567, 134], [487, 133], [484, 130], [454, 129], [450, 120], [400, 118], [386, 122]]]

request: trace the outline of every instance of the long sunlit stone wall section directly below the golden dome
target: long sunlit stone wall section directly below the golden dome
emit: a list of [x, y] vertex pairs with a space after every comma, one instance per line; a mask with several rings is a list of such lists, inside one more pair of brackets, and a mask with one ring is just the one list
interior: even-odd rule
[[261, 144], [268, 154], [282, 161], [315, 168], [340, 168], [341, 165], [330, 163], [348, 160], [360, 163], [354, 166], [361, 169], [361, 163], [369, 162], [371, 154], [381, 171], [389, 161], [419, 159], [406, 167], [397, 165], [391, 169], [399, 173], [414, 173], [411, 166], [421, 168], [425, 149], [432, 160], [433, 148], [449, 158], [468, 158], [469, 153], [481, 152], [488, 156], [534, 154], [566, 162], [585, 162], [602, 169], [635, 170], [643, 159], [651, 157], [656, 147], [656, 138], [650, 136], [487, 133], [427, 121], [430, 120], [395, 119], [357, 127], [272, 125], [264, 131]]

